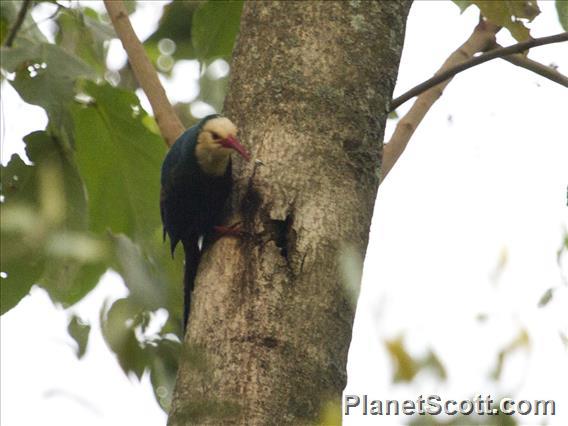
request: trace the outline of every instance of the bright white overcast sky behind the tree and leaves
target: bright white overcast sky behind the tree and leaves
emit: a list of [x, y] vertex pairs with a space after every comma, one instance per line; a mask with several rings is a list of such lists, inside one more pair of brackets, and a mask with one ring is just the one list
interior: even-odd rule
[[[543, 13], [532, 35], [561, 32], [554, 3], [539, 6]], [[156, 7], [152, 2], [136, 13], [141, 36], [153, 31]], [[435, 72], [476, 22], [473, 8], [460, 16], [451, 2], [415, 2], [395, 94]], [[513, 43], [502, 33], [501, 44]], [[530, 57], [568, 74], [565, 44], [533, 49]], [[113, 45], [109, 64], [118, 67], [123, 60], [120, 45]], [[194, 64], [180, 66], [183, 72], [174, 72], [166, 85], [173, 100], [178, 93], [187, 100], [193, 87], [188, 79], [197, 79]], [[568, 424], [568, 357], [559, 337], [568, 335], [568, 293], [561, 279], [568, 272], [556, 261], [568, 229], [567, 94], [501, 60], [464, 72], [449, 85], [379, 190], [346, 393], [370, 399], [555, 399], [560, 408], [548, 424]], [[7, 85], [1, 117], [3, 162], [21, 152], [24, 135], [46, 124], [43, 110], [24, 104]], [[500, 259], [506, 263], [496, 274]], [[556, 289], [554, 298], [539, 308], [549, 288]], [[55, 309], [43, 290], [32, 290], [2, 317], [2, 425], [165, 424], [148, 378], [138, 383], [125, 377], [100, 334], [102, 301], [126, 292], [120, 277], [109, 272], [72, 308], [93, 323], [81, 361], [66, 334], [70, 313]], [[522, 329], [530, 349], [512, 354], [502, 380], [490, 381], [497, 353]], [[410, 385], [393, 385], [383, 341], [400, 334], [412, 355], [432, 350], [448, 380], [424, 372]], [[380, 419], [393, 425], [407, 420]], [[350, 426], [376, 422], [345, 418]], [[527, 416], [520, 423], [542, 424], [542, 418]]]

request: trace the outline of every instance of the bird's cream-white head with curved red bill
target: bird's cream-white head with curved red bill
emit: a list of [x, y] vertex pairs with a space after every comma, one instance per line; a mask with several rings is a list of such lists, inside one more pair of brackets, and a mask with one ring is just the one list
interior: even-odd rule
[[205, 173], [223, 175], [233, 151], [250, 160], [250, 154], [237, 139], [237, 133], [237, 126], [226, 117], [207, 120], [197, 137], [195, 148], [197, 162]]

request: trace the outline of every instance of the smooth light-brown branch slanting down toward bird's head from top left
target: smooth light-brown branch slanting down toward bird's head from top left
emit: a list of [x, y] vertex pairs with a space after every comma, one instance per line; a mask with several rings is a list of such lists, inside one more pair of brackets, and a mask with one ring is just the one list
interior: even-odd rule
[[112, 25], [128, 54], [134, 75], [150, 101], [160, 133], [171, 146], [185, 128], [172, 108], [158, 73], [146, 56], [144, 46], [130, 24], [124, 4], [121, 0], [104, 0], [104, 3]]

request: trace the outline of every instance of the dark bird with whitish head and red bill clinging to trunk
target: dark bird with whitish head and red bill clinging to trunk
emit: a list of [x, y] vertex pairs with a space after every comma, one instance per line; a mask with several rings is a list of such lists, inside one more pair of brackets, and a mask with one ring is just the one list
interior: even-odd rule
[[231, 154], [246, 161], [250, 154], [237, 139], [237, 127], [220, 114], [201, 119], [172, 145], [161, 169], [160, 213], [163, 239], [170, 240], [172, 258], [181, 241], [185, 252], [183, 329], [187, 327], [203, 243], [220, 226], [232, 189]]

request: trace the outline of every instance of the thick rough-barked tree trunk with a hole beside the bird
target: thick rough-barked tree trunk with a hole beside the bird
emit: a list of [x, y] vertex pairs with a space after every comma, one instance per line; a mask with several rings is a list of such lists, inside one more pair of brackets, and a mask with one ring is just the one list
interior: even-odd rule
[[[248, 2], [225, 114], [235, 216], [200, 264], [170, 425], [307, 424], [339, 402], [408, 1]], [[355, 289], [355, 299], [358, 288]]]

